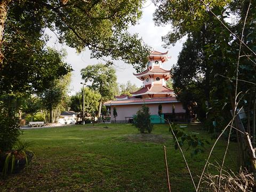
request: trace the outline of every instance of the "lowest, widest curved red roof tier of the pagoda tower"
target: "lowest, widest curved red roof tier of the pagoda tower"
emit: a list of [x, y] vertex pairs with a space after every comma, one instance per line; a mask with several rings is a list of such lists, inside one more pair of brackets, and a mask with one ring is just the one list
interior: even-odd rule
[[171, 94], [173, 92], [173, 90], [169, 89], [166, 86], [162, 86], [162, 85], [146, 85], [145, 87], [143, 87], [142, 89], [133, 92], [131, 94], [133, 95], [140, 95], [140, 94], [153, 94], [153, 93], [157, 93], [157, 94]]

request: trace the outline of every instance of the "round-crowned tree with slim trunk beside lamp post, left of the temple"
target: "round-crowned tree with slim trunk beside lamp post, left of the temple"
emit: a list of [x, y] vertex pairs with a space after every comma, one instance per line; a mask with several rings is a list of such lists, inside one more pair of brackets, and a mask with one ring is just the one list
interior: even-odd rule
[[114, 99], [116, 95], [116, 70], [113, 67], [108, 67], [103, 64], [89, 65], [81, 70], [82, 79], [84, 82], [91, 82], [89, 87], [101, 94], [99, 100], [98, 116], [101, 115], [102, 102]]

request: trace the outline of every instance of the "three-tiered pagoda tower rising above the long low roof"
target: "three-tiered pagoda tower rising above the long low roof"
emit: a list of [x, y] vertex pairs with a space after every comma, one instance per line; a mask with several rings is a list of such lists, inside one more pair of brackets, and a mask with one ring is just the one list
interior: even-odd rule
[[170, 70], [163, 69], [164, 62], [170, 59], [167, 53], [150, 52], [147, 69], [142, 73], [133, 74], [143, 81], [143, 88], [131, 93], [132, 97], [142, 99], [175, 97], [173, 90], [166, 87], [166, 81], [171, 78]]

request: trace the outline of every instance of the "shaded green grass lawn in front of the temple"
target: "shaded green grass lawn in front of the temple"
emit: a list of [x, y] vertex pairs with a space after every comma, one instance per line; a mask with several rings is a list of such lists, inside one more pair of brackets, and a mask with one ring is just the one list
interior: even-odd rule
[[[201, 131], [199, 125], [186, 129], [199, 133], [212, 145], [210, 135]], [[163, 145], [172, 192], [194, 191], [167, 125], [154, 125], [151, 134], [142, 136], [130, 124], [86, 124], [25, 130], [20, 138], [33, 141], [30, 149], [36, 157], [32, 168], [0, 180], [0, 191], [167, 191]], [[222, 140], [213, 154], [221, 158], [225, 145]], [[233, 170], [235, 146], [231, 143], [226, 160]], [[190, 151], [185, 153], [196, 181], [210, 146], [206, 148], [204, 154], [193, 158]], [[211, 158], [211, 162], [215, 160]]]

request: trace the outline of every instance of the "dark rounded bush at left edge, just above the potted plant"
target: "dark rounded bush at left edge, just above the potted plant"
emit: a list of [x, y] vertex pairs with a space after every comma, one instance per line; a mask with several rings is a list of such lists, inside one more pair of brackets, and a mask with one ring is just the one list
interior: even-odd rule
[[14, 112], [0, 108], [0, 152], [10, 150], [20, 134], [19, 119]]

